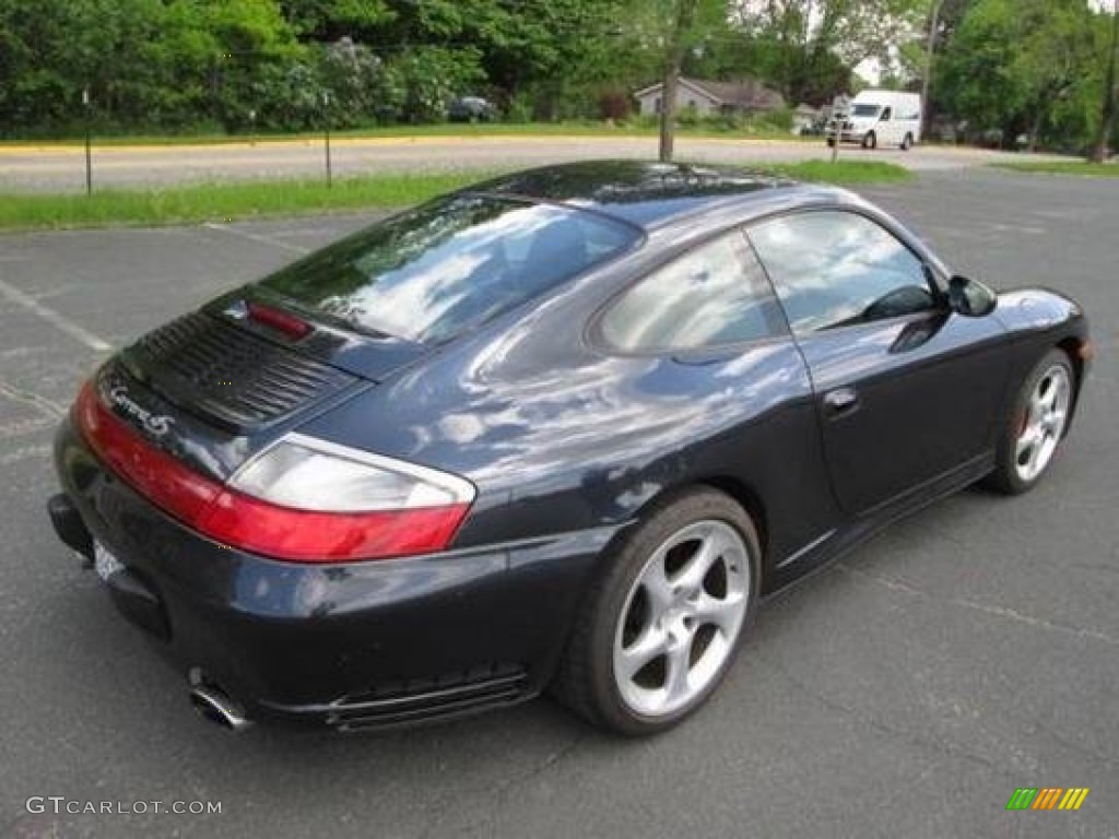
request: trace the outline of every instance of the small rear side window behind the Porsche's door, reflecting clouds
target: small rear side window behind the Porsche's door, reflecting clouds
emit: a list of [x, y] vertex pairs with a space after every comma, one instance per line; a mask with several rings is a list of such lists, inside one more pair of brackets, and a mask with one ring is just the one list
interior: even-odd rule
[[786, 330], [753, 251], [739, 232], [708, 242], [629, 289], [600, 323], [611, 346], [688, 350], [769, 338]]

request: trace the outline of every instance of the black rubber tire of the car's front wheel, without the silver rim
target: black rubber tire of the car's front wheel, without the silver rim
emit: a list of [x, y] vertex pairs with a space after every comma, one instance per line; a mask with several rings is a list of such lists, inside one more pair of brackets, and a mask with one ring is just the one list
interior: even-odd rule
[[[1032, 402], [1040, 388], [1044, 392], [1045, 385], [1043, 383], [1046, 378], [1055, 381], [1062, 375], [1068, 383], [1069, 393], [1061, 426], [1045, 436], [1046, 441], [1052, 441], [1050, 454], [1041, 469], [1035, 474], [1031, 474], [1031, 470], [1025, 469], [1023, 463], [1024, 460], [1028, 460], [1031, 450], [1023, 450], [1019, 444], [1026, 439], [1026, 433], [1033, 424]], [[1023, 380], [1014, 396], [1007, 416], [1003, 420], [995, 450], [995, 471], [986, 479], [987, 487], [1007, 496], [1017, 496], [1028, 492], [1037, 486], [1049, 472], [1056, 454], [1060, 453], [1061, 442], [1069, 432], [1075, 396], [1076, 373], [1072, 361], [1063, 350], [1050, 350], [1034, 365], [1029, 375]]]

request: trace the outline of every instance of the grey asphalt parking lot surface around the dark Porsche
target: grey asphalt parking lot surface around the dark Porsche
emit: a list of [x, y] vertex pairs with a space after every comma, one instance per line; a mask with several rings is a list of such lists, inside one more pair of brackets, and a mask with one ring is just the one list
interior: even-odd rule
[[[711, 705], [637, 742], [548, 701], [349, 738], [196, 718], [50, 531], [51, 430], [106, 347], [360, 219], [0, 236], [0, 835], [1119, 835], [1119, 182], [864, 191], [961, 273], [1084, 304], [1098, 359], [1073, 436], [1035, 492], [965, 492], [768, 604]], [[1091, 792], [1007, 812], [1019, 786]], [[27, 811], [51, 795], [222, 812]]]

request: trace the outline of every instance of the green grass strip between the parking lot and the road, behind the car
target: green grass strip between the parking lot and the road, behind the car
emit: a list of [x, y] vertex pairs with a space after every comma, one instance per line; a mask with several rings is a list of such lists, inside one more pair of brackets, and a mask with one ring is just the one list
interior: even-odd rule
[[[798, 180], [858, 185], [905, 181], [913, 175], [893, 163], [810, 160], [770, 164], [760, 171]], [[0, 229], [63, 229], [112, 225], [172, 225], [231, 221], [255, 216], [298, 216], [360, 208], [405, 207], [464, 187], [485, 172], [387, 175], [321, 179], [200, 183], [151, 190], [82, 194], [0, 194]]]

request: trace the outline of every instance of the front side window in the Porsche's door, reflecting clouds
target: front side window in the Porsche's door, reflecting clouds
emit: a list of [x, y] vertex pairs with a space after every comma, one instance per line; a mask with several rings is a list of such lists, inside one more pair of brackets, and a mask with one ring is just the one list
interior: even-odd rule
[[755, 225], [749, 234], [798, 334], [935, 304], [921, 261], [865, 216], [801, 213]]

